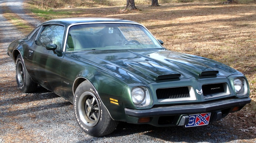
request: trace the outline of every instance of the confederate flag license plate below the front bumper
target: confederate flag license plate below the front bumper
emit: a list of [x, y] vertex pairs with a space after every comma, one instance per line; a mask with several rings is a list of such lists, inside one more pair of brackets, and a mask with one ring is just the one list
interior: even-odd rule
[[189, 122], [185, 127], [208, 125], [211, 113], [189, 115]]

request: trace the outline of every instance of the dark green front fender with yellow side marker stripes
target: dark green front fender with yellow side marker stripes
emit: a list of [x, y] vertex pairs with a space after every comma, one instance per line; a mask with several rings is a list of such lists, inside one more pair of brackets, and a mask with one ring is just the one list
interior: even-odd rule
[[66, 94], [64, 98], [73, 103], [76, 87], [88, 80], [95, 87], [112, 119], [124, 121], [122, 118], [125, 117], [123, 93], [125, 86], [130, 84], [129, 80], [72, 53], [66, 53], [63, 57], [61, 76]]

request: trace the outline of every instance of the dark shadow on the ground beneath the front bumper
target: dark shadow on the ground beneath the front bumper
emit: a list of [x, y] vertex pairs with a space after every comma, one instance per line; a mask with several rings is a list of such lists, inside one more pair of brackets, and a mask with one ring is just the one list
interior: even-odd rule
[[184, 126], [154, 127], [147, 124], [137, 125], [120, 122], [117, 129], [105, 137], [112, 138], [133, 134], [136, 134], [138, 138], [146, 135], [156, 138], [156, 141], [169, 142], [232, 142], [238, 139], [254, 139], [253, 135], [239, 132], [233, 125], [229, 125], [225, 119], [212, 122], [206, 126], [189, 128]]

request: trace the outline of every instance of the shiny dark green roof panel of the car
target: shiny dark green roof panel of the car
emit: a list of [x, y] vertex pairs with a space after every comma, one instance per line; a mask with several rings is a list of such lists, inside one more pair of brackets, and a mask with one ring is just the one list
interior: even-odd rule
[[49, 20], [46, 21], [40, 25], [45, 25], [45, 24], [63, 24], [65, 26], [71, 25], [71, 24], [78, 24], [78, 23], [92, 23], [92, 22], [124, 22], [124, 23], [135, 23], [137, 22], [130, 21], [130, 20], [124, 20], [124, 19], [116, 19], [116, 18], [63, 18], [63, 19], [54, 19], [54, 20]]

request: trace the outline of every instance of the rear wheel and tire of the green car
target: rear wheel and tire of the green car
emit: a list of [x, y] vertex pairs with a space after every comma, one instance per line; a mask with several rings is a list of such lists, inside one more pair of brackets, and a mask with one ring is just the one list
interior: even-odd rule
[[37, 88], [37, 84], [32, 81], [21, 55], [18, 55], [16, 59], [16, 81], [20, 91], [24, 93], [31, 93]]

